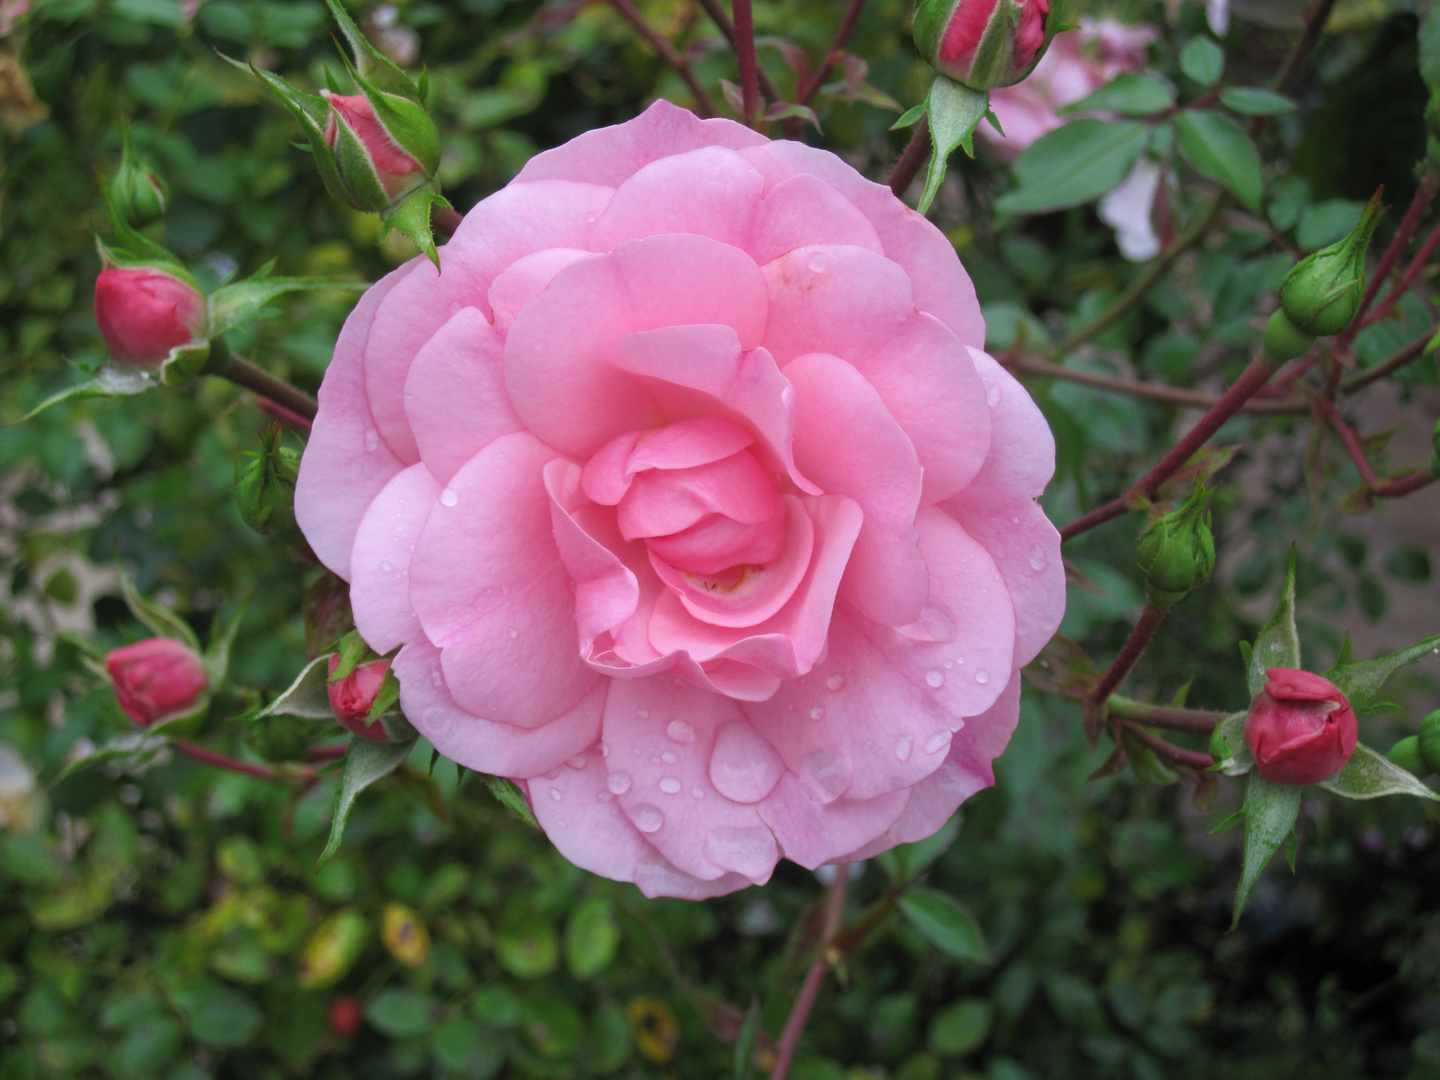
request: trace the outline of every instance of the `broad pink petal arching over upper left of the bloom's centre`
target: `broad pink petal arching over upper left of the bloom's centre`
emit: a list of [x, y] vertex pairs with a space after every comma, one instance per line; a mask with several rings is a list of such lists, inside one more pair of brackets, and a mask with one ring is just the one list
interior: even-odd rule
[[664, 422], [638, 380], [615, 366], [621, 337], [708, 323], [755, 348], [765, 318], [765, 279], [739, 248], [693, 235], [626, 240], [572, 262], [516, 315], [505, 386], [539, 439], [589, 458], [618, 435]]

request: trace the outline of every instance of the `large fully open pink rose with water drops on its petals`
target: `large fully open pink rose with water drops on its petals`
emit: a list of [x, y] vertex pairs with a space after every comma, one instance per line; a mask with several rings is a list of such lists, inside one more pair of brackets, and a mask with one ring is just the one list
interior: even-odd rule
[[707, 897], [927, 837], [1064, 606], [1054, 442], [955, 249], [835, 156], [657, 102], [356, 307], [295, 514], [441, 753]]

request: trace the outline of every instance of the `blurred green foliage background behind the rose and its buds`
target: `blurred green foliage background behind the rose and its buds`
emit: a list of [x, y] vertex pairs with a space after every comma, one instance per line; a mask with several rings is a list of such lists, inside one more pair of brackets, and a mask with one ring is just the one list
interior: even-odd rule
[[[706, 48], [714, 35], [697, 9], [644, 9], [691, 46], [707, 85], [736, 78], [733, 58]], [[762, 35], [815, 58], [838, 14], [822, 0], [785, 0], [759, 4], [756, 19]], [[1139, 3], [1119, 14], [1168, 17]], [[1237, 12], [1225, 42], [1228, 78], [1261, 85], [1296, 29], [1246, 16]], [[906, 107], [927, 85], [907, 17], [901, 0], [873, 0], [852, 45], [870, 82]], [[410, 0], [399, 26], [422, 43], [441, 177], [461, 209], [539, 148], [625, 120], [654, 96], [687, 101], [605, 4]], [[1202, 9], [1181, 4], [1153, 49], [1182, 96], [1198, 86], [1178, 55], [1202, 26]], [[1277, 238], [1320, 246], [1378, 183], [1391, 203], [1408, 199], [1424, 150], [1416, 26], [1405, 4], [1342, 3], [1299, 111], [1261, 135], [1263, 215], [1227, 217], [1099, 350], [1063, 363], [1107, 372], [1109, 350], [1149, 377], [1233, 377], [1259, 337], [1257, 300], [1292, 262]], [[253, 596], [232, 687], [200, 730], [209, 744], [246, 753], [225, 717], [255, 700], [248, 688], [278, 690], [304, 662], [298, 598], [315, 570], [240, 523], [233, 462], [264, 418], [233, 387], [200, 380], [14, 422], [75, 379], [65, 361], [92, 370], [102, 359], [92, 170], [115, 167], [120, 117], [170, 181], [166, 240], [210, 285], [269, 258], [279, 274], [356, 279], [409, 258], [402, 240], [376, 245], [373, 217], [327, 199], [292, 147], [289, 118], [215, 55], [318, 86], [324, 65], [338, 69], [330, 33], [315, 0], [209, 0], [193, 17], [174, 0], [37, 0], [0, 40], [35, 89], [33, 102], [12, 84], [0, 91], [0, 743], [43, 789], [36, 827], [0, 832], [0, 1080], [729, 1076], [720, 1035], [733, 1037], [753, 998], [778, 1035], [804, 972], [821, 886], [792, 864], [770, 886], [723, 900], [647, 901], [566, 864], [474, 778], [458, 783], [449, 763], [428, 780], [423, 746], [403, 782], [363, 796], [341, 855], [318, 874], [334, 779], [292, 792], [176, 759], [50, 786], [84, 740], [130, 730], [75, 648], [55, 638], [75, 629], [109, 648], [143, 635], [120, 600], [117, 560], [202, 635]], [[793, 86], [778, 49], [763, 48], [762, 60]], [[891, 112], [832, 94], [819, 114], [825, 145], [883, 176], [903, 138], [887, 132]], [[1007, 220], [995, 213], [1015, 184], [1004, 163], [982, 153], [953, 173], [935, 217], [976, 281], [992, 348], [1058, 340], [1136, 272], [1093, 207]], [[1207, 194], [1195, 180], [1182, 176], [1184, 213]], [[351, 302], [344, 292], [287, 300], [230, 343], [312, 390]], [[1365, 331], [1361, 364], [1430, 324], [1424, 301], [1403, 314]], [[1433, 360], [1401, 382], [1405, 392], [1434, 384]], [[1172, 406], [1060, 382], [1031, 390], [1060, 445], [1045, 500], [1060, 521], [1119, 491], [1172, 433]], [[1302, 420], [1241, 419], [1227, 431], [1234, 438], [1221, 442], [1264, 435], [1289, 449], [1247, 452], [1231, 467], [1251, 482], [1217, 498], [1225, 569], [1175, 609], [1135, 684], [1168, 700], [1188, 683], [1192, 704], [1217, 708], [1244, 706], [1236, 642], [1253, 636], [1292, 540], [1302, 636], [1318, 664], [1333, 657], [1345, 619], [1381, 618], [1387, 593], [1423, 585], [1440, 557], [1372, 552], [1335, 510], [1355, 482], [1349, 465], [1302, 468]], [[1140, 605], [1136, 531], [1122, 518], [1067, 549], [1096, 588], [1071, 589], [1063, 629], [1097, 657], [1113, 655]], [[1225, 539], [1243, 554], [1224, 562]], [[1408, 711], [1362, 720], [1362, 737], [1381, 747], [1437, 704], [1434, 665], [1407, 671], [1392, 691]], [[1175, 785], [1133, 773], [1087, 782], [1102, 760], [1074, 707], [1027, 691], [999, 783], [966, 804], [953, 845], [909, 852], [907, 864], [871, 861], [852, 883], [852, 916], [867, 906], [884, 914], [825, 992], [796, 1077], [1440, 1076], [1434, 811], [1308, 804], [1299, 873], [1272, 867], [1240, 929], [1224, 933], [1236, 834], [1208, 837], [1207, 816]], [[1221, 808], [1236, 798], [1223, 788]], [[920, 870], [926, 887], [973, 913], [984, 959], [937, 950], [888, 907], [894, 883], [924, 858], [935, 860]], [[418, 968], [380, 942], [392, 901], [428, 926], [433, 943]], [[301, 989], [305, 940], [346, 909], [370, 926], [363, 953], [337, 985]], [[364, 1004], [353, 1037], [327, 1024], [337, 995]], [[642, 1053], [644, 1031], [626, 1017], [645, 998], [678, 1021], [665, 1061]]]

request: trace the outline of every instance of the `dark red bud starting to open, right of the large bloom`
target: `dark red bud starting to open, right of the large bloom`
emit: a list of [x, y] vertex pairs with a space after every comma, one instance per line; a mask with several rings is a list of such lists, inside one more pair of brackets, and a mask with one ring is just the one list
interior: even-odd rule
[[1345, 694], [1309, 671], [1270, 668], [1250, 703], [1246, 742], [1260, 776], [1272, 783], [1319, 783], [1355, 753], [1358, 726]]

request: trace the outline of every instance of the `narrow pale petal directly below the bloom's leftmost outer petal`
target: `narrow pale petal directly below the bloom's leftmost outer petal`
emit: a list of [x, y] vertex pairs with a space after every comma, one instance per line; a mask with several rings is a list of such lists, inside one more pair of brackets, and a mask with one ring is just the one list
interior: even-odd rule
[[370, 504], [350, 554], [350, 606], [356, 629], [376, 652], [422, 641], [410, 608], [410, 552], [441, 495], [425, 465], [397, 474]]

